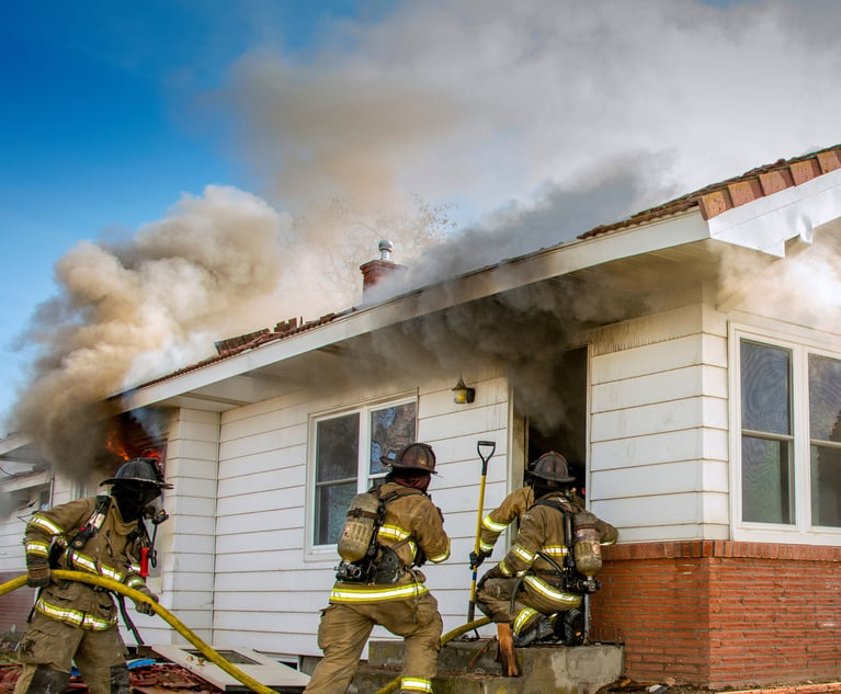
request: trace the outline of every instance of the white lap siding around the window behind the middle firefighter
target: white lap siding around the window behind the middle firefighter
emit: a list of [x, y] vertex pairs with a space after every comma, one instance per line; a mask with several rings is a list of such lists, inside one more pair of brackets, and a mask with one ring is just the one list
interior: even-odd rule
[[[453, 402], [452, 383], [421, 386], [418, 439], [430, 443], [440, 476], [430, 491], [445, 513], [453, 539], [451, 559], [427, 565], [428, 585], [437, 598], [445, 628], [464, 624], [476, 504], [479, 496], [479, 440], [495, 440], [486, 508], [508, 489], [508, 385], [501, 376], [466, 380], [476, 402]], [[411, 389], [409, 386], [408, 389]], [[336, 402], [406, 392], [406, 385], [337, 394]], [[331, 409], [325, 399], [302, 394], [239, 408], [223, 416], [219, 442], [214, 640], [217, 646], [320, 656], [316, 644], [319, 611], [327, 606], [339, 560], [334, 549], [307, 553], [306, 514], [309, 418]], [[375, 632], [375, 635], [379, 630]], [[387, 636], [382, 632], [380, 638]]]

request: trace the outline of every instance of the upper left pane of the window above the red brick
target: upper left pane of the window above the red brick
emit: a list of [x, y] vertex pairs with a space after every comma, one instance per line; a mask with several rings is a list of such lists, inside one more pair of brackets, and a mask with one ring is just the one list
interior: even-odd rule
[[741, 342], [742, 429], [791, 434], [787, 350]]

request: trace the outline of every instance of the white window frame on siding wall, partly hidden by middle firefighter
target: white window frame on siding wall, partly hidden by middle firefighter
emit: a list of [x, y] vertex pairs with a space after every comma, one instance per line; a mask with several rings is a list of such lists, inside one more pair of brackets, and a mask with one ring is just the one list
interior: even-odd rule
[[[375, 400], [365, 400], [364, 402], [356, 402], [352, 406], [345, 406], [342, 408], [336, 408], [330, 410], [323, 410], [320, 412], [314, 412], [309, 416], [308, 436], [307, 436], [307, 487], [306, 487], [306, 503], [304, 505], [304, 558], [309, 560], [325, 560], [329, 558], [331, 561], [336, 560], [336, 543], [327, 545], [317, 545], [315, 542], [316, 530], [316, 492], [319, 485], [316, 481], [317, 473], [317, 455], [318, 455], [318, 424], [319, 422], [337, 419], [340, 417], [346, 417], [350, 414], [359, 413], [360, 416], [360, 433], [359, 433], [359, 450], [356, 452], [356, 493], [363, 492], [368, 489], [368, 480], [385, 477], [385, 473], [382, 475], [370, 476], [368, 473], [368, 452], [371, 451], [371, 414], [373, 411], [383, 410], [389, 407], [399, 407], [402, 405], [414, 405], [414, 434], [416, 440], [418, 435], [418, 426], [420, 422], [418, 409], [420, 400], [417, 391], [411, 394], [402, 394], [396, 396], [389, 396], [384, 398], [377, 398]], [[361, 473], [364, 470], [364, 475]], [[364, 480], [364, 481], [363, 481]]]

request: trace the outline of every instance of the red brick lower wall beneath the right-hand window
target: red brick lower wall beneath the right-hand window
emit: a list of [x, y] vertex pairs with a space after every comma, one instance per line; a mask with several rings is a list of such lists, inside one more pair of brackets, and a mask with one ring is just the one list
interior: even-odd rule
[[841, 548], [696, 541], [604, 548], [591, 637], [637, 681], [841, 680]]

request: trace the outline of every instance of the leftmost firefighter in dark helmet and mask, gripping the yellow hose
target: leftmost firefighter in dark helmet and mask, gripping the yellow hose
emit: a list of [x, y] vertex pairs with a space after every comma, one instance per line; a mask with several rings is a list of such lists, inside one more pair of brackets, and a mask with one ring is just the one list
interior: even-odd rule
[[[75, 662], [91, 694], [129, 694], [128, 668], [111, 593], [79, 581], [56, 581], [50, 569], [96, 573], [158, 601], [139, 574], [147, 539], [144, 512], [162, 489], [156, 458], [120, 466], [110, 494], [77, 499], [33, 514], [26, 524], [26, 583], [38, 593], [18, 648], [23, 664], [14, 694], [64, 692]], [[152, 614], [151, 605], [136, 608]]]

